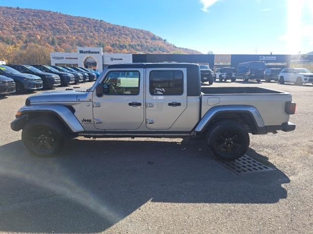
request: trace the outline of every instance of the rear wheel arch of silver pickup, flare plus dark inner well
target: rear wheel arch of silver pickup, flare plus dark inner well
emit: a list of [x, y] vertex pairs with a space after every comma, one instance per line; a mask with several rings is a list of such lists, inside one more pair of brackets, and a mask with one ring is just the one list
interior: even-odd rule
[[206, 112], [195, 127], [196, 133], [205, 133], [209, 126], [221, 120], [235, 120], [244, 124], [252, 134], [266, 134], [259, 111], [253, 106], [217, 106]]

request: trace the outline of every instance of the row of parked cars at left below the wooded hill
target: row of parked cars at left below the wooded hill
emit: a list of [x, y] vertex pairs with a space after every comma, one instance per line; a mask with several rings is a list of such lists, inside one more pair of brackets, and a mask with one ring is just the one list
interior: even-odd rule
[[0, 65], [0, 95], [93, 81], [97, 76], [96, 72], [79, 67]]

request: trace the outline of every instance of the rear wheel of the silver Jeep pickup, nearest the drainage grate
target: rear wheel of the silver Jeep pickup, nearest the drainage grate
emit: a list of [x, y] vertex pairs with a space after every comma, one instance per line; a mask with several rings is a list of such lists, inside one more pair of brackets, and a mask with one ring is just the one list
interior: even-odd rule
[[235, 160], [246, 153], [250, 138], [245, 127], [233, 120], [215, 123], [207, 133], [209, 150], [221, 160]]

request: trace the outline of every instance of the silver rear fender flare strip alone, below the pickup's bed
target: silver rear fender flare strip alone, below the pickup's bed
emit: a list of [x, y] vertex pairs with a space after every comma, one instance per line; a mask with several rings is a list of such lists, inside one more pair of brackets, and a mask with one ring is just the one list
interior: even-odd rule
[[215, 106], [209, 109], [195, 127], [196, 133], [202, 133], [214, 117], [220, 113], [248, 113], [254, 120], [258, 129], [265, 127], [259, 111], [254, 106], [233, 105]]

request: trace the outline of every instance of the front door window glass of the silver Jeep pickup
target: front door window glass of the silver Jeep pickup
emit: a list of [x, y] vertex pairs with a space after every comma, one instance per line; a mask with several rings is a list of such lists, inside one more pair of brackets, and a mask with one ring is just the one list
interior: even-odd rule
[[112, 95], [138, 95], [139, 94], [139, 78], [138, 71], [112, 71], [109, 72], [103, 84], [107, 85]]

